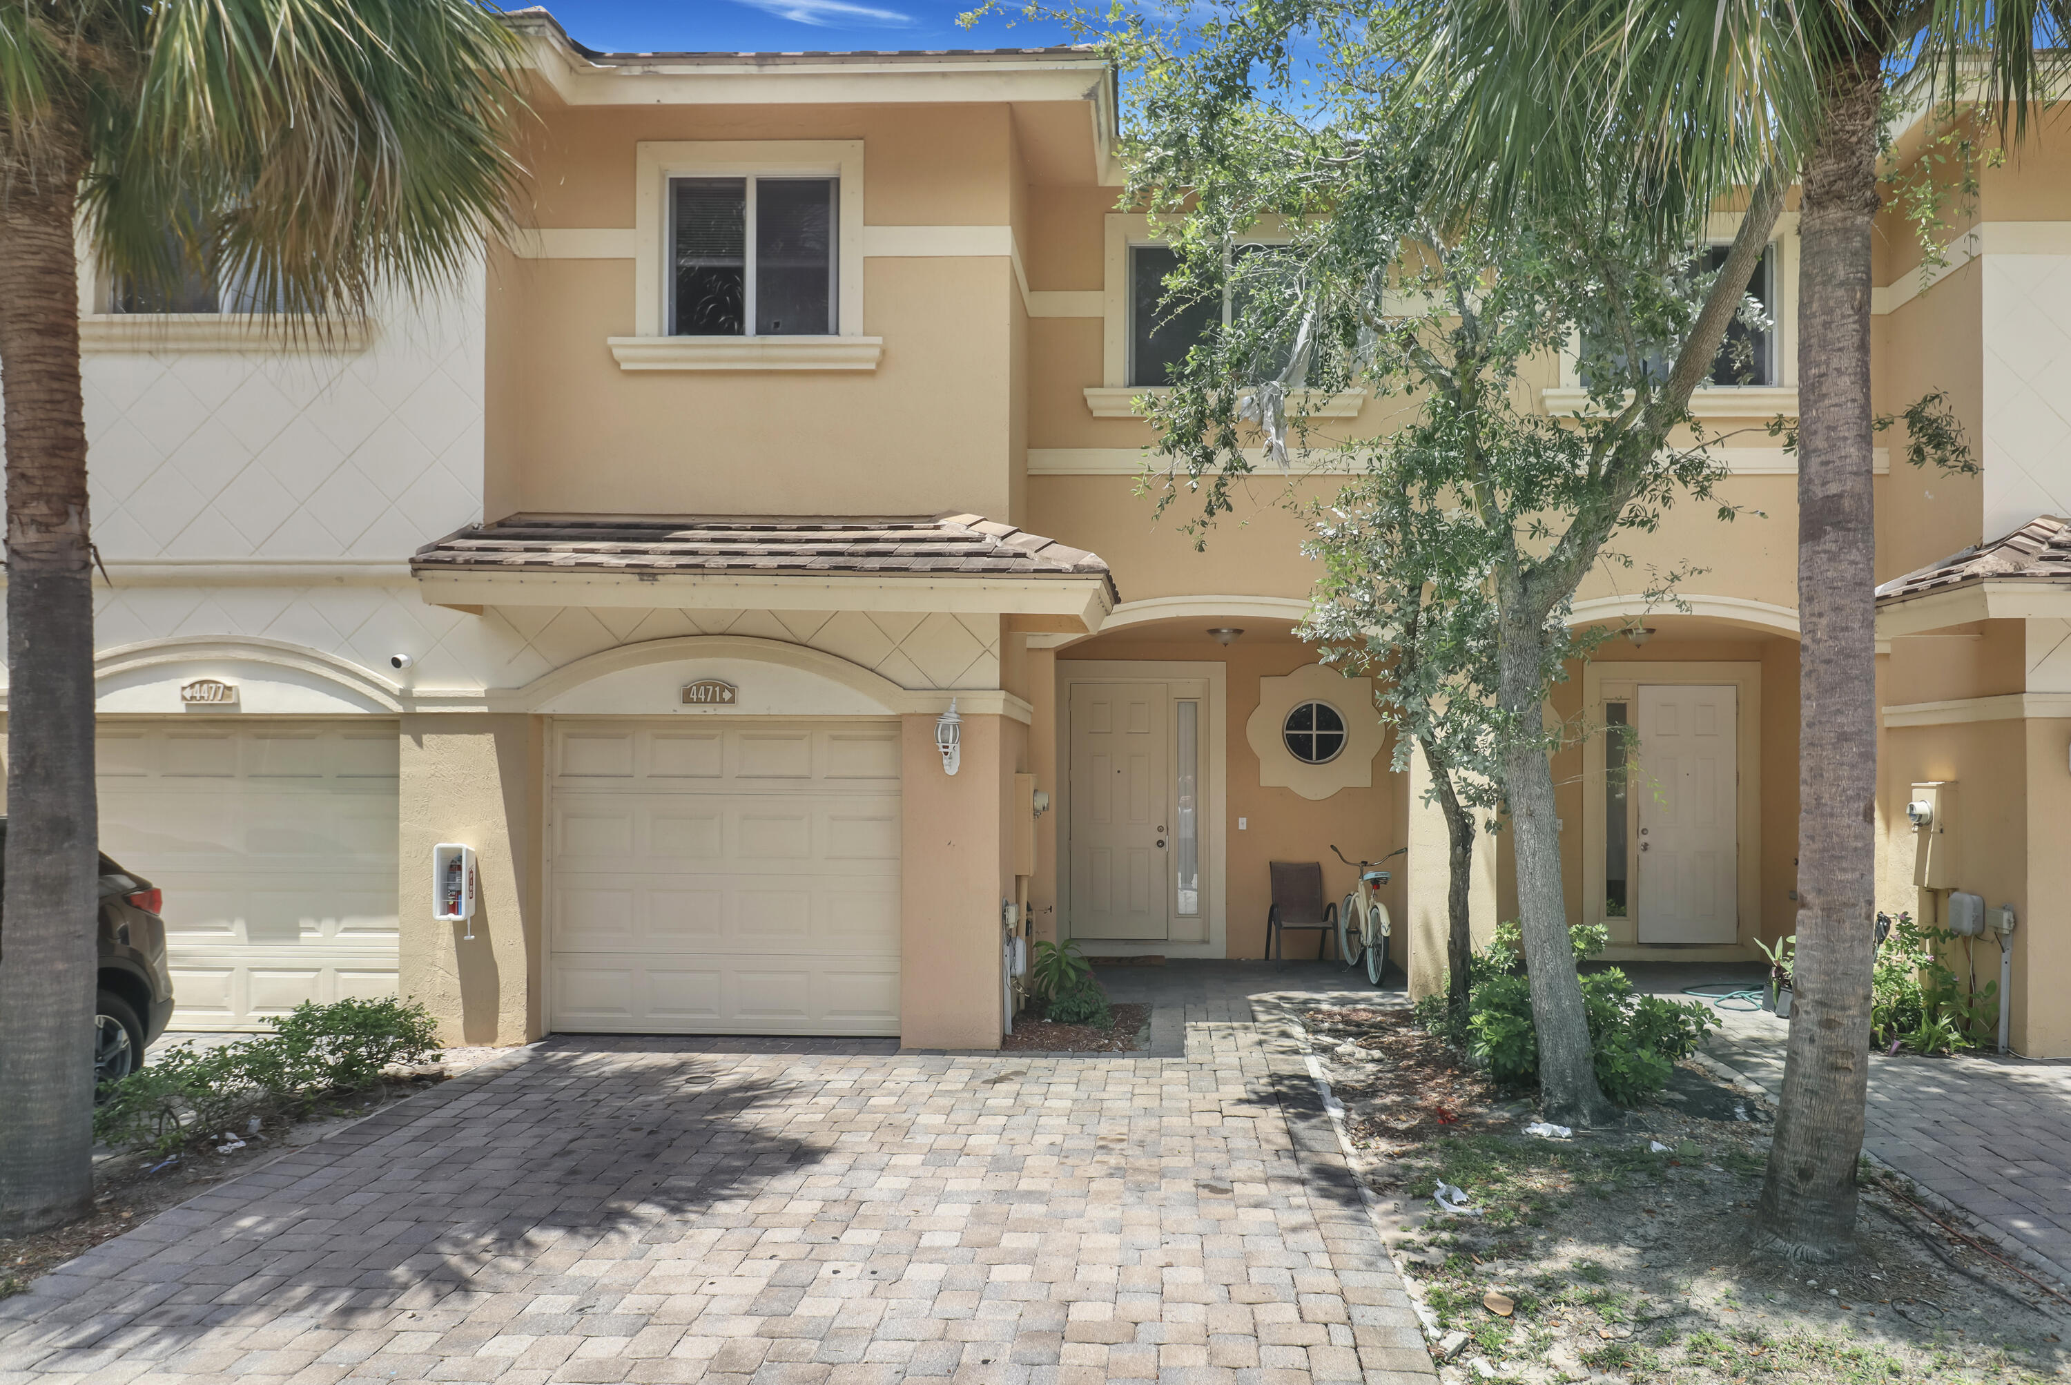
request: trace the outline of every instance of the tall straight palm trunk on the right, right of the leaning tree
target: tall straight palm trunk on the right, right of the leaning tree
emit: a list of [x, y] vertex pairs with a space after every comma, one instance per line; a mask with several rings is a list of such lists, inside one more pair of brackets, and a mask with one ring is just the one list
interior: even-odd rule
[[1798, 234], [1798, 969], [1758, 1236], [1793, 1259], [1856, 1230], [1876, 961], [1870, 236], [1876, 54], [1829, 77]]

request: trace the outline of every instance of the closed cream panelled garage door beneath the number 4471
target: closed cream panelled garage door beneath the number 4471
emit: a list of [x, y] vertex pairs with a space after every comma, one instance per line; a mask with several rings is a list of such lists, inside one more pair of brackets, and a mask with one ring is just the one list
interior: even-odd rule
[[555, 723], [553, 1027], [899, 1033], [899, 723]]

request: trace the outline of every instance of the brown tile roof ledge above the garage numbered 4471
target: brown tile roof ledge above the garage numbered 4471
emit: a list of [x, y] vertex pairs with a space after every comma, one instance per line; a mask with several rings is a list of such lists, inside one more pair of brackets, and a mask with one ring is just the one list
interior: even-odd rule
[[512, 515], [470, 524], [410, 559], [418, 576], [534, 571], [669, 576], [1091, 578], [1093, 553], [984, 515]]

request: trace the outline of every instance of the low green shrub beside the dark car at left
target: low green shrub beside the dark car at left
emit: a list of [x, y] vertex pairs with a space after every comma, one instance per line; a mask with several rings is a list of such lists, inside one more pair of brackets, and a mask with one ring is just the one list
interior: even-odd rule
[[128, 1077], [101, 1083], [93, 1139], [114, 1149], [172, 1153], [242, 1130], [253, 1116], [296, 1112], [333, 1091], [358, 1091], [389, 1064], [439, 1052], [437, 1021], [416, 1002], [298, 1004], [273, 1033], [209, 1052], [180, 1043]]

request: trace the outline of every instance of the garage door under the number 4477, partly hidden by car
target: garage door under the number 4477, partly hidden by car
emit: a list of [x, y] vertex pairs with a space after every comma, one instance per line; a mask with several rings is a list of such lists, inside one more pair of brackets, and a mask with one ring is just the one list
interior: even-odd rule
[[101, 723], [101, 851], [166, 892], [174, 1029], [396, 994], [396, 725]]

